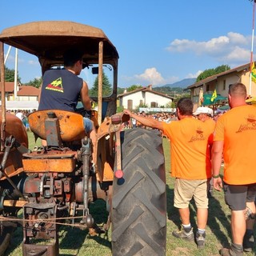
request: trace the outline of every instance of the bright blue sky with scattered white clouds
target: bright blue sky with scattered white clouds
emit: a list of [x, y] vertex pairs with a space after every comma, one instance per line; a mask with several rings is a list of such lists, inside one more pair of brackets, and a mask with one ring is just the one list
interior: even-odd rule
[[[101, 28], [118, 50], [119, 87], [163, 86], [223, 64], [250, 62], [250, 0], [2, 0], [0, 10], [0, 31], [46, 20]], [[9, 68], [14, 54], [12, 49]], [[37, 58], [19, 51], [18, 74], [22, 82], [40, 77]]]

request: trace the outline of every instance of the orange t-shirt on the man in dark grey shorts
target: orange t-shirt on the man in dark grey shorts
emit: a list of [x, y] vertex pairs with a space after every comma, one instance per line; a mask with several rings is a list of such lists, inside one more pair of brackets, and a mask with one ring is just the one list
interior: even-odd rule
[[256, 182], [256, 107], [238, 106], [218, 118], [214, 141], [224, 141], [224, 182]]

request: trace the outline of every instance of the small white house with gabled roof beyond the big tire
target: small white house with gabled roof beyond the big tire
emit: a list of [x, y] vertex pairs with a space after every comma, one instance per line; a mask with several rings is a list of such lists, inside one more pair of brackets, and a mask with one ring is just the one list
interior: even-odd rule
[[128, 110], [138, 109], [139, 106], [148, 106], [150, 108], [158, 108], [170, 105], [174, 98], [166, 94], [161, 94], [152, 89], [152, 86], [146, 86], [118, 94], [119, 106], [123, 106]]

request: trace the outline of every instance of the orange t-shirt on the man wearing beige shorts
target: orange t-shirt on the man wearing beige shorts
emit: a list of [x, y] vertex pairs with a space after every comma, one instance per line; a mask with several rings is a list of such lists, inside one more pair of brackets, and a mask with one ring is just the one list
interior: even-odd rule
[[214, 129], [191, 117], [163, 123], [163, 132], [170, 138], [172, 176], [190, 180], [211, 177], [209, 144]]

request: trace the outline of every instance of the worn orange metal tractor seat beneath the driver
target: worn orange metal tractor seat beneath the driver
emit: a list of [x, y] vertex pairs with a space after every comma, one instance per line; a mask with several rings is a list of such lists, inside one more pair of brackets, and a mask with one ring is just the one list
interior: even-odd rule
[[[40, 110], [28, 116], [30, 130], [44, 140], [51, 135], [51, 122], [56, 125], [58, 135], [62, 142], [72, 142], [85, 138], [86, 131], [83, 126], [81, 114], [65, 110]], [[50, 124], [50, 125], [49, 125]], [[58, 127], [59, 126], [59, 127]]]

